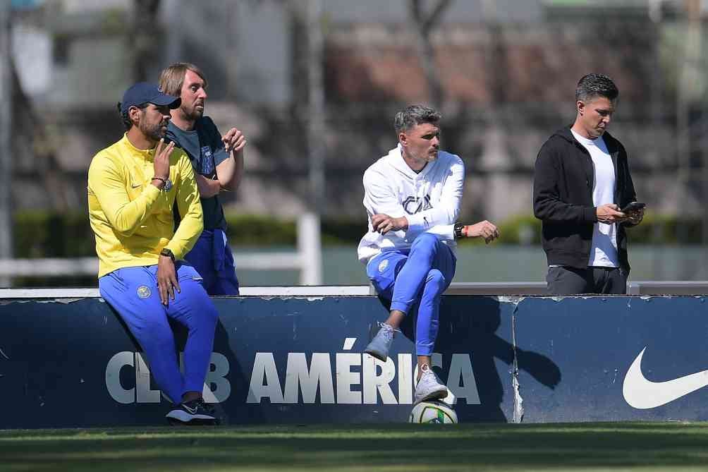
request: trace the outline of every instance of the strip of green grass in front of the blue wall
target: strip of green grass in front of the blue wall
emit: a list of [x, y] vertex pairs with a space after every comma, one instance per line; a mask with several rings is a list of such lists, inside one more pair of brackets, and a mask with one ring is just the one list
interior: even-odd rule
[[704, 471], [708, 423], [0, 431], [0, 471]]

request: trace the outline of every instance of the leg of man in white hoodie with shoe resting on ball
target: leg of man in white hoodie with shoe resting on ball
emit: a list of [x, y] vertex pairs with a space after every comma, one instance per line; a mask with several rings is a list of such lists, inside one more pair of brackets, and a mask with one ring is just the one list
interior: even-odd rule
[[421, 303], [418, 307], [416, 320], [416, 355], [418, 356], [418, 383], [414, 403], [435, 398], [445, 398], [447, 387], [442, 385], [432, 369], [430, 357], [435, 348], [440, 325], [440, 297], [450, 286], [455, 276], [456, 259], [447, 245], [438, 248], [433, 260], [433, 269], [426, 277]]

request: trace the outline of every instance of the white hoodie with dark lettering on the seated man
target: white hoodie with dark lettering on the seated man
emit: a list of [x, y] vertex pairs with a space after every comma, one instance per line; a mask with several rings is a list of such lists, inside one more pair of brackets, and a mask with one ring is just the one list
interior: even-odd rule
[[[455, 154], [438, 152], [421, 172], [413, 171], [401, 155], [401, 145], [378, 159], [364, 172], [364, 208], [369, 232], [359, 242], [359, 260], [369, 260], [390, 249], [409, 249], [416, 236], [432, 232], [455, 250], [453, 226], [459, 215], [464, 187], [464, 163]], [[375, 232], [373, 215], [405, 216], [408, 230]]]

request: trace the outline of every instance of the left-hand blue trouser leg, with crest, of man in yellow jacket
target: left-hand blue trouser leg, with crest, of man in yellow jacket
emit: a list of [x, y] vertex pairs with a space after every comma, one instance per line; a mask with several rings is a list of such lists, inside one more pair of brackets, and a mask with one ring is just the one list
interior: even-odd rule
[[98, 279], [98, 288], [137, 339], [157, 385], [173, 403], [179, 403], [183, 382], [174, 336], [149, 267], [113, 271]]

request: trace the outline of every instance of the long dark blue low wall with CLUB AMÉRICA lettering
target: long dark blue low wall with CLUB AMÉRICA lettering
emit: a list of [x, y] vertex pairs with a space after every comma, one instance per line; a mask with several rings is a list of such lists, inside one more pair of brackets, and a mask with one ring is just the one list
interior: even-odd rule
[[[226, 422], [407, 420], [412, 319], [384, 365], [361, 354], [387, 315], [375, 297], [214, 302], [220, 321], [207, 399]], [[645, 347], [650, 381], [706, 369], [705, 307], [697, 297], [448, 296], [433, 361], [462, 422], [513, 420], [515, 365], [527, 422], [706, 420], [702, 388], [648, 409], [633, 408], [622, 393]], [[176, 330], [183, 345], [185, 332]], [[11, 408], [0, 428], [160, 424], [170, 404], [137, 352], [101, 299], [6, 301], [0, 398]], [[652, 395], [668, 386], [648, 388]]]

